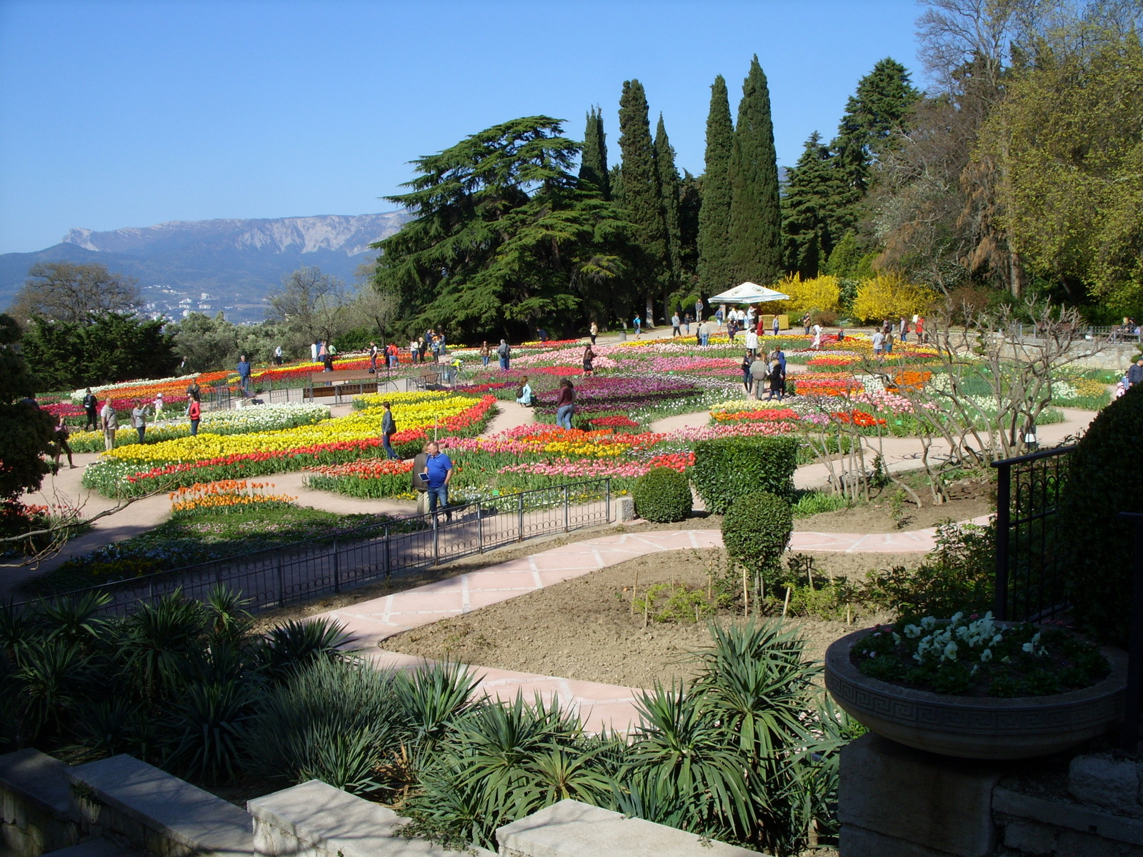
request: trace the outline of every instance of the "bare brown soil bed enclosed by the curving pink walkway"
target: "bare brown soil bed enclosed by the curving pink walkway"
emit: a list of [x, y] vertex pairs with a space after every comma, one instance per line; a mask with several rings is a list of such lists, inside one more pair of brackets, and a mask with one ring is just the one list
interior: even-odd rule
[[[463, 616], [391, 636], [392, 651], [459, 660], [542, 675], [649, 688], [693, 673], [689, 652], [710, 643], [705, 623], [648, 623], [632, 614], [636, 572], [639, 592], [657, 583], [705, 588], [721, 550], [671, 551], [592, 571], [555, 586], [485, 607]], [[813, 554], [821, 574], [861, 578], [873, 568], [914, 567], [924, 554]], [[821, 660], [837, 638], [861, 625], [884, 620], [858, 615], [845, 622], [793, 618], [807, 641], [806, 654]], [[718, 622], [741, 622], [722, 611]]]

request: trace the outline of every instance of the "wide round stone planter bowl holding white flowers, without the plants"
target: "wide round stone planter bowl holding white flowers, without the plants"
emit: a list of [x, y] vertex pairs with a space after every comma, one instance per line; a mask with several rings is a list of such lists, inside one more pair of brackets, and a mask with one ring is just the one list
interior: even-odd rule
[[858, 672], [850, 649], [870, 631], [830, 646], [825, 687], [852, 718], [898, 744], [962, 759], [1028, 759], [1082, 744], [1122, 719], [1127, 655], [1118, 649], [1101, 649], [1111, 672], [1082, 690], [1012, 698], [945, 696]]

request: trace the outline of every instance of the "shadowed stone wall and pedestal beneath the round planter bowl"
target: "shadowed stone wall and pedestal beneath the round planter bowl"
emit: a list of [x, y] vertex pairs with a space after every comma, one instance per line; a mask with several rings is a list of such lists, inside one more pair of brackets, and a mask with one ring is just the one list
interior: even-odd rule
[[1143, 857], [1143, 768], [984, 762], [865, 735], [841, 751], [841, 857]]

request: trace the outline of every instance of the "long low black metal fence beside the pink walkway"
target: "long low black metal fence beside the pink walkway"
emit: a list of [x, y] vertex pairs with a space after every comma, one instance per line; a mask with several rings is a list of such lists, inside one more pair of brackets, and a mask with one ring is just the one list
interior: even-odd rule
[[401, 518], [61, 594], [105, 592], [111, 599], [103, 612], [125, 616], [139, 602], [176, 590], [201, 601], [224, 584], [250, 599], [253, 611], [270, 610], [526, 538], [606, 523], [612, 513], [612, 481], [569, 482], [450, 506], [448, 512], [450, 519], [445, 521], [438, 520], [443, 516], [440, 512]]

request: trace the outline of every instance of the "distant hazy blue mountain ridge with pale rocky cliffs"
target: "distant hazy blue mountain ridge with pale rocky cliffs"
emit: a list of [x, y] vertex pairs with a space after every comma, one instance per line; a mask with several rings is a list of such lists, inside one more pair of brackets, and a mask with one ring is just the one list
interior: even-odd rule
[[11, 303], [38, 262], [98, 262], [137, 278], [152, 312], [177, 317], [184, 310], [225, 310], [234, 321], [259, 321], [263, 298], [282, 274], [317, 265], [349, 282], [369, 257], [369, 243], [393, 234], [409, 219], [403, 211], [391, 211], [174, 221], [111, 232], [73, 229], [46, 250], [0, 255], [0, 306]]

